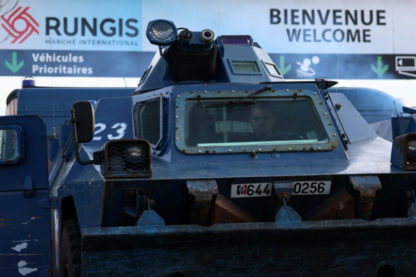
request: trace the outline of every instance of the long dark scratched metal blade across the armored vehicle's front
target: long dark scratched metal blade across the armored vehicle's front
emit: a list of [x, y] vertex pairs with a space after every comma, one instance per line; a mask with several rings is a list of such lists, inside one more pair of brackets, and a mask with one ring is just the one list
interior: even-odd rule
[[87, 228], [82, 276], [416, 276], [415, 231], [414, 218]]

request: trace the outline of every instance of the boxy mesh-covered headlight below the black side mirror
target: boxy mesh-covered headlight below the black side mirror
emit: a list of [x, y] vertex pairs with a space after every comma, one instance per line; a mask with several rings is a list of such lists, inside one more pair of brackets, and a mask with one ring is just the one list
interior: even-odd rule
[[147, 140], [111, 140], [104, 151], [106, 178], [151, 176], [151, 152]]

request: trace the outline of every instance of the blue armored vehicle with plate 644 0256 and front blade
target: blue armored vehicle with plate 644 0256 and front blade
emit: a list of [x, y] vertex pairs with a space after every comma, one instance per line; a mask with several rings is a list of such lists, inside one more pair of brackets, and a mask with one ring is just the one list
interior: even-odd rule
[[416, 134], [378, 137], [249, 35], [146, 34], [131, 96], [74, 103], [50, 140], [0, 119], [5, 276], [416, 275]]

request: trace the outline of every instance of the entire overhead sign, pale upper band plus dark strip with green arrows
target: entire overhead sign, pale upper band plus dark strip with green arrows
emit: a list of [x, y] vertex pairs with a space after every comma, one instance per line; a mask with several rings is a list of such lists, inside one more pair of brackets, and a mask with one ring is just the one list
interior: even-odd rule
[[416, 78], [415, 8], [400, 0], [10, 0], [0, 75], [139, 77], [157, 51], [147, 23], [163, 18], [250, 34], [285, 78]]

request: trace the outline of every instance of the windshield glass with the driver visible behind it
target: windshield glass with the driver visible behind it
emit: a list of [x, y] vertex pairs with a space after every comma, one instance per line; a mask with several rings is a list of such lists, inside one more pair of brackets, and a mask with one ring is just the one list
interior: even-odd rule
[[186, 147], [312, 144], [328, 135], [307, 97], [256, 98], [239, 105], [209, 106], [230, 99], [187, 99]]

